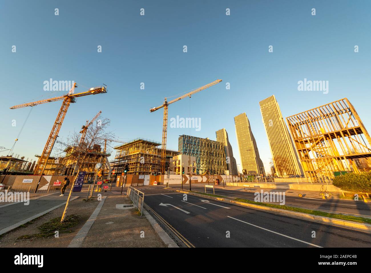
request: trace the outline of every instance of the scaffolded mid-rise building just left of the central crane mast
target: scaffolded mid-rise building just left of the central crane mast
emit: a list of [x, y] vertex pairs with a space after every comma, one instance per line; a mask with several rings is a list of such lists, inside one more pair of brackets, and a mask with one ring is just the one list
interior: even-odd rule
[[[111, 161], [111, 167], [117, 174], [123, 172], [126, 164], [129, 165], [128, 174], [143, 175], [161, 172], [161, 143], [147, 139], [134, 139], [126, 144], [121, 144], [116, 150], [115, 159]], [[170, 158], [180, 152], [166, 150], [165, 170], [168, 170]]]

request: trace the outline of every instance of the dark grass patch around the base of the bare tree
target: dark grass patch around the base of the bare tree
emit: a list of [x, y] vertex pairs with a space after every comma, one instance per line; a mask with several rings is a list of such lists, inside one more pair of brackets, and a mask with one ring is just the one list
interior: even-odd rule
[[63, 223], [60, 223], [60, 217], [53, 218], [37, 227], [40, 233], [22, 235], [17, 240], [52, 237], [55, 235], [55, 231], [59, 231], [59, 233], [71, 233], [73, 231], [72, 227], [79, 223], [79, 219], [80, 217], [76, 214], [67, 216]]

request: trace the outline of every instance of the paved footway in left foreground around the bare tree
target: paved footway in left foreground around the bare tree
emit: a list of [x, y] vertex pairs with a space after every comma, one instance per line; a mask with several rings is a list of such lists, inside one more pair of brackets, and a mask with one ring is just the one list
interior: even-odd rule
[[[127, 188], [124, 188], [124, 195], [126, 192]], [[164, 231], [151, 217], [149, 219], [139, 217], [135, 207], [122, 209], [122, 205], [132, 205], [132, 203], [128, 197], [121, 195], [121, 188], [116, 187], [110, 192], [94, 193], [88, 202], [83, 201], [86, 193], [72, 193], [68, 214], [78, 214], [83, 221], [73, 228], [71, 233], [61, 233], [58, 239], [48, 237], [17, 240], [20, 236], [36, 233], [37, 227], [42, 223], [62, 215], [68, 193], [63, 197], [59, 194], [44, 195], [30, 200], [29, 205], [12, 203], [4, 207], [0, 206], [0, 235], [6, 233], [1, 238], [1, 246], [167, 247], [175, 245], [176, 247], [167, 234], [160, 234]], [[97, 200], [97, 194], [102, 194], [101, 201]], [[26, 227], [16, 228], [41, 215], [45, 216]], [[166, 244], [164, 238], [167, 238]]]

